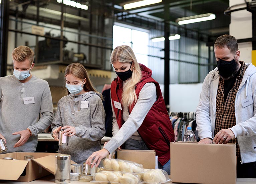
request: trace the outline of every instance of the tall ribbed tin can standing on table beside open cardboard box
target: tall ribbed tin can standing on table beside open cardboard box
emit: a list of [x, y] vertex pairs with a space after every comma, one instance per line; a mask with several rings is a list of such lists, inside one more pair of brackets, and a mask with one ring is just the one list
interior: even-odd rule
[[55, 183], [70, 183], [70, 155], [58, 154], [55, 167]]

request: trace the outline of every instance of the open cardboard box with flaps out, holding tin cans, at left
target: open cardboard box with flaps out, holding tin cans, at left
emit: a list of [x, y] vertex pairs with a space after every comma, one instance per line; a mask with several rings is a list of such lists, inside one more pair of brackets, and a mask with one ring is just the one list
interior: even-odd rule
[[[0, 180], [30, 182], [54, 174], [55, 155], [60, 153], [13, 152], [0, 154]], [[33, 160], [24, 160], [25, 155], [34, 155]], [[18, 160], [3, 160], [12, 157]], [[75, 163], [71, 160], [71, 164]]]

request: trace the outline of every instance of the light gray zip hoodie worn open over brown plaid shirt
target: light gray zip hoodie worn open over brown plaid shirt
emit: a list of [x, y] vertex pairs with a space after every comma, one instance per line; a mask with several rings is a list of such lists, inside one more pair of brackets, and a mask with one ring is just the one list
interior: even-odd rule
[[[246, 63], [243, 80], [235, 98], [236, 125], [230, 129], [238, 138], [242, 163], [256, 161], [256, 67]], [[216, 67], [205, 77], [199, 105], [196, 110], [197, 130], [199, 137], [214, 138], [216, 96], [219, 85], [219, 72]], [[252, 104], [242, 106], [242, 103], [252, 99]]]

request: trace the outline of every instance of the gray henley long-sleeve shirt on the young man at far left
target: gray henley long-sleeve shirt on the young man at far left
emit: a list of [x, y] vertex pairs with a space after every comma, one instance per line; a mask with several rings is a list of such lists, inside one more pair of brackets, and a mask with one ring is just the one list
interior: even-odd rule
[[[26, 103], [24, 98], [34, 99]], [[39, 113], [41, 118], [37, 121]], [[14, 75], [0, 78], [0, 133], [6, 139], [7, 152], [35, 152], [37, 134], [43, 132], [52, 122], [52, 98], [48, 83], [35, 76], [20, 82]], [[20, 135], [14, 132], [29, 128], [32, 136], [22, 146], [14, 148]]]

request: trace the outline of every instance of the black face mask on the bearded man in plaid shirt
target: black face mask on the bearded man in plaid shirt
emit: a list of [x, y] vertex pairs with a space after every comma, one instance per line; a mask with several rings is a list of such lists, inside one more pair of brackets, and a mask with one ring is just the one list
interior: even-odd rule
[[219, 59], [217, 61], [217, 67], [220, 75], [224, 78], [228, 78], [232, 74], [234, 74], [237, 67], [237, 61], [235, 60], [235, 58], [231, 61], [224, 61], [222, 59]]

